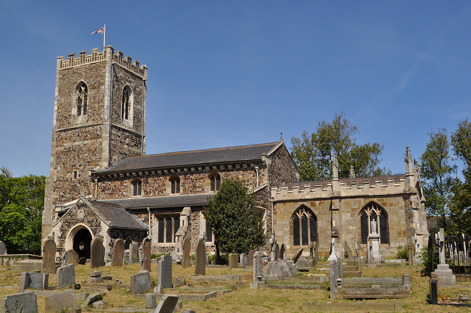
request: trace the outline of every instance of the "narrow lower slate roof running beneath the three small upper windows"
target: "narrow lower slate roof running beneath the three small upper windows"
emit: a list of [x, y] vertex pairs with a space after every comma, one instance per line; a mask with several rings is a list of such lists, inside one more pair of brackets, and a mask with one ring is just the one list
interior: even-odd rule
[[207, 199], [214, 197], [213, 193], [204, 193], [196, 195], [179, 195], [166, 197], [143, 197], [98, 201], [99, 203], [112, 204], [124, 208], [176, 208], [176, 207], [195, 207], [204, 206], [208, 203]]

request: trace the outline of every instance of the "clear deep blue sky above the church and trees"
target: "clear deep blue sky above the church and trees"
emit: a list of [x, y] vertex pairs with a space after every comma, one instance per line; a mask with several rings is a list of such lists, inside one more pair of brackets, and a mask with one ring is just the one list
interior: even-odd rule
[[149, 67], [147, 154], [277, 141], [345, 112], [405, 171], [471, 113], [469, 1], [2, 1], [0, 166], [49, 175], [56, 57]]

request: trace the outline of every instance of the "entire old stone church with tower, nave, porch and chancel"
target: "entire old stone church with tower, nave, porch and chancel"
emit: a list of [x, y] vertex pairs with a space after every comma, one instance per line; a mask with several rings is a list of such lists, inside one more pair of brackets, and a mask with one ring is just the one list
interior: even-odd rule
[[69, 249], [89, 258], [96, 236], [105, 258], [118, 238], [129, 247], [149, 237], [161, 254], [181, 252], [185, 237], [194, 251], [205, 237], [213, 251], [204, 206], [228, 177], [255, 193], [267, 234], [288, 253], [317, 241], [328, 254], [331, 238], [365, 246], [373, 217], [385, 255], [410, 237], [424, 244], [419, 167], [412, 169], [409, 152], [406, 174], [322, 182], [298, 182], [283, 138], [146, 155], [147, 70], [111, 46], [57, 57], [42, 240], [56, 242], [58, 260]]

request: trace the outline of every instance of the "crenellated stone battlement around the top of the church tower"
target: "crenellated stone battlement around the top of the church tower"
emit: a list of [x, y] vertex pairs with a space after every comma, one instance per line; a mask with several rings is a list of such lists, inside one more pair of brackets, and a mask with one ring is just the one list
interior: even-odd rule
[[68, 60], [66, 60], [64, 56], [58, 56], [57, 71], [102, 61], [115, 62], [138, 76], [147, 78], [147, 66], [141, 65], [139, 67], [139, 62], [136, 60], [132, 62], [129, 55], [126, 55], [123, 58], [123, 52], [119, 50], [114, 53], [114, 48], [112, 46], [106, 46], [103, 52], [100, 52], [100, 49], [98, 48], [92, 49], [92, 54], [82, 51], [80, 52], [79, 57], [77, 57], [75, 53], [71, 53], [69, 54]]

